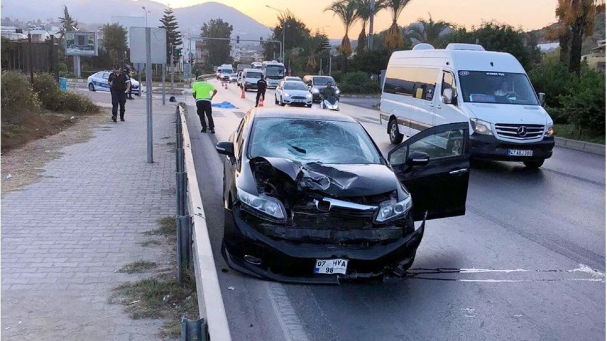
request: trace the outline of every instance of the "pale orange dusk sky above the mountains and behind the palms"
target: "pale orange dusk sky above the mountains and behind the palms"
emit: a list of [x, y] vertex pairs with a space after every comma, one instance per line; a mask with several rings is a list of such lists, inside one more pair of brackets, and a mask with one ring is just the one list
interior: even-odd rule
[[[187, 7], [209, 2], [205, 0], [153, 0], [172, 7]], [[266, 26], [276, 25], [278, 14], [265, 7], [270, 5], [288, 9], [302, 19], [311, 30], [320, 28], [330, 38], [344, 36], [344, 27], [331, 12], [323, 12], [330, 0], [215, 0], [231, 6]], [[435, 21], [444, 20], [470, 27], [482, 21], [495, 19], [524, 30], [540, 29], [555, 22], [554, 8], [557, 0], [412, 0], [400, 16], [398, 23], [406, 25], [432, 14]], [[384, 10], [375, 21], [375, 32], [390, 27], [390, 13]], [[361, 32], [361, 25], [354, 25], [348, 35], [354, 39]]]

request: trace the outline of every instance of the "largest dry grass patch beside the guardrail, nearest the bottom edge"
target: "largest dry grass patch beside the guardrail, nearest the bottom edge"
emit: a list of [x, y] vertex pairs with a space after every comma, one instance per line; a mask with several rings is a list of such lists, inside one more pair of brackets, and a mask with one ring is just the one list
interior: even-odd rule
[[175, 274], [163, 277], [169, 278], [124, 283], [114, 289], [110, 303], [126, 306], [132, 319], [163, 319], [161, 337], [179, 337], [181, 317], [198, 317], [196, 283], [192, 274], [183, 276], [183, 285]]

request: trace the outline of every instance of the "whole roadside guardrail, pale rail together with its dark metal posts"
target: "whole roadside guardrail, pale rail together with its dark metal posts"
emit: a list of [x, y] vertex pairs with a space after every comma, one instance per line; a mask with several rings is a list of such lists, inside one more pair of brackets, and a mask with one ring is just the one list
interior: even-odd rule
[[200, 320], [181, 321], [181, 339], [231, 341], [228, 317], [215, 269], [205, 211], [198, 190], [192, 145], [183, 106], [175, 110], [177, 144], [177, 278], [194, 265]]

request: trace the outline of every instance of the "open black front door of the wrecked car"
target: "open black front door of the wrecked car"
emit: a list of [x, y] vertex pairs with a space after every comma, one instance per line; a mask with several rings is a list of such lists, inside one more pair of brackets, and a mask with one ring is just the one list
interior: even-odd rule
[[407, 187], [416, 221], [466, 214], [470, 144], [468, 124], [449, 123], [413, 135], [388, 154]]

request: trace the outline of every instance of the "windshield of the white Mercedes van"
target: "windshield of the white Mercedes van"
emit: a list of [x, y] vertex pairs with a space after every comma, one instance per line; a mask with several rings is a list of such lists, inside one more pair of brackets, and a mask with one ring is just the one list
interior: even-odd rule
[[459, 71], [464, 102], [537, 106], [537, 96], [524, 73]]

